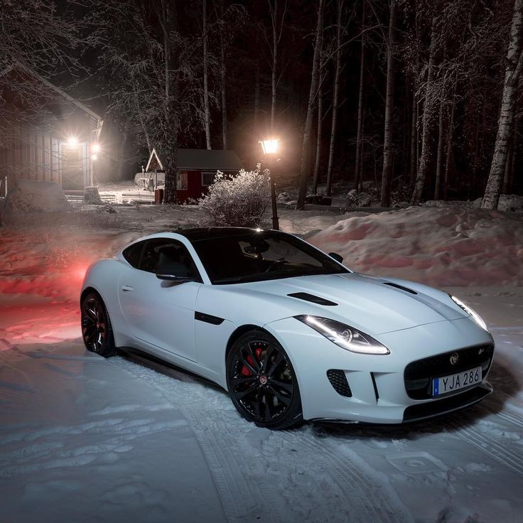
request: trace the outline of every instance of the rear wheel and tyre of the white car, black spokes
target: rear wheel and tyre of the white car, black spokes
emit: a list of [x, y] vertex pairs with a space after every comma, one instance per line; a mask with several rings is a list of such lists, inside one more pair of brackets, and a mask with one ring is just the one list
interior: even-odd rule
[[80, 306], [82, 338], [87, 350], [103, 357], [116, 355], [111, 320], [102, 296], [88, 293]]

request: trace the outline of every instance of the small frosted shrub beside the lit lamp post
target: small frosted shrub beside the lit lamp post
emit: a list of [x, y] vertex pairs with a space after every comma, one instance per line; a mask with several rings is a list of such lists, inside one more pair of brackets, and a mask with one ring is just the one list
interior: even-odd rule
[[239, 171], [225, 176], [220, 171], [207, 196], [200, 198], [204, 224], [213, 227], [258, 227], [269, 203], [269, 171]]

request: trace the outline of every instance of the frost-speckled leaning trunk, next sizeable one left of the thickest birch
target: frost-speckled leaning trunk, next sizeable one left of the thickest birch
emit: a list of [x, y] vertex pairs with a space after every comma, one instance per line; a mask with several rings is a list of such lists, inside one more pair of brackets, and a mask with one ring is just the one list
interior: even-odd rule
[[434, 64], [436, 62], [436, 28], [438, 21], [438, 6], [433, 7], [433, 16], [431, 24], [431, 46], [428, 55], [428, 72], [426, 80], [425, 103], [423, 111], [423, 129], [421, 131], [421, 157], [419, 158], [418, 173], [416, 176], [416, 184], [412, 193], [411, 205], [418, 205], [421, 200], [421, 193], [423, 193], [426, 173], [428, 171], [428, 161], [431, 156], [431, 127], [433, 121], [433, 80], [434, 80]]

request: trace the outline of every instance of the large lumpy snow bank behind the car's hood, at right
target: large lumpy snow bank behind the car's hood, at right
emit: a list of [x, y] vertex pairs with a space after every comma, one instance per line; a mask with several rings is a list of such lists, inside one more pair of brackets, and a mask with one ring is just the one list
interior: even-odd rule
[[342, 220], [308, 241], [364, 273], [434, 286], [523, 285], [523, 219], [499, 211], [409, 207]]

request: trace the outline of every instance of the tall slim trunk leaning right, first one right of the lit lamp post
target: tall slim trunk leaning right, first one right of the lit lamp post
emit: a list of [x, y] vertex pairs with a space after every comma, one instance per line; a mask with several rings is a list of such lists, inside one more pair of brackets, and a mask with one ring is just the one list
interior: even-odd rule
[[307, 117], [303, 129], [303, 145], [301, 148], [300, 190], [296, 209], [305, 209], [307, 182], [311, 167], [309, 164], [311, 131], [313, 126], [314, 101], [318, 90], [318, 75], [320, 70], [320, 49], [323, 41], [323, 0], [318, 2], [318, 24], [316, 26], [316, 43], [314, 44], [313, 70], [311, 73], [311, 90], [308, 95]]

